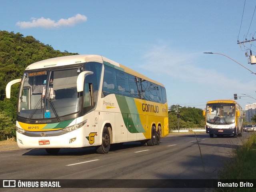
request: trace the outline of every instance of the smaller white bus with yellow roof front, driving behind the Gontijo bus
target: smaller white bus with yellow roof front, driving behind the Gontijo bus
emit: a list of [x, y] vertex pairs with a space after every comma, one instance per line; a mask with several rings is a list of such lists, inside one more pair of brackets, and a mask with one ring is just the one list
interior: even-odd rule
[[206, 133], [213, 138], [214, 135], [242, 136], [243, 110], [234, 100], [213, 100], [206, 103], [203, 110], [205, 116]]

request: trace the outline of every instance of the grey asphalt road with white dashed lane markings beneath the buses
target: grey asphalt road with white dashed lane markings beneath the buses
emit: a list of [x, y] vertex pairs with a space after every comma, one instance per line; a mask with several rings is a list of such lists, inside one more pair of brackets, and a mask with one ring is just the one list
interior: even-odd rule
[[[0, 152], [0, 179], [211, 179], [232, 158], [233, 150], [248, 139], [210, 138], [209, 134], [172, 135], [159, 146], [128, 142], [112, 146], [108, 154], [95, 148], [61, 149], [49, 155], [43, 149]], [[71, 191], [70, 189], [1, 189], [1, 191]], [[102, 189], [76, 189], [102, 191]], [[104, 191], [209, 191], [208, 189], [106, 188]]]

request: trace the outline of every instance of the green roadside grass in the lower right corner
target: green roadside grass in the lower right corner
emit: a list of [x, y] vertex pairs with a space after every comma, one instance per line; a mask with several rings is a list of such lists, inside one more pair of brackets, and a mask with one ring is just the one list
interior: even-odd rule
[[[256, 179], [256, 134], [234, 150], [234, 157], [225, 163], [219, 172], [219, 179], [238, 180], [239, 182]], [[218, 188], [216, 192], [255, 192], [255, 188]]]

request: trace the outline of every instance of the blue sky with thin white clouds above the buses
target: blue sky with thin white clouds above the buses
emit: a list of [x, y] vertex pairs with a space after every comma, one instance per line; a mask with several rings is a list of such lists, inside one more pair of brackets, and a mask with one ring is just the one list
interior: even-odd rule
[[256, 64], [246, 57], [256, 55], [256, 41], [237, 44], [256, 35], [254, 0], [8, 0], [1, 7], [0, 30], [132, 68], [164, 84], [168, 106], [204, 109], [234, 94], [243, 109], [256, 102]]

